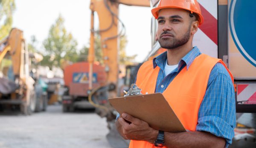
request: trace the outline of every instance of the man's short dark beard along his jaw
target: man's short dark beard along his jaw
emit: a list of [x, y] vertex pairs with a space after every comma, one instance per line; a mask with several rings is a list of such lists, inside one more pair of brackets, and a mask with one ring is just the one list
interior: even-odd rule
[[[168, 31], [164, 31], [162, 34], [168, 34]], [[186, 31], [186, 33], [183, 34], [183, 36], [180, 37], [179, 39], [177, 39], [175, 37], [173, 37], [173, 39], [166, 39], [166, 40], [160, 38], [160, 40], [158, 40], [158, 41], [162, 48], [174, 49], [174, 48], [177, 48], [179, 46], [183, 46], [184, 44], [186, 44], [189, 41], [189, 38], [190, 38], [190, 27], [189, 27], [188, 31]]]

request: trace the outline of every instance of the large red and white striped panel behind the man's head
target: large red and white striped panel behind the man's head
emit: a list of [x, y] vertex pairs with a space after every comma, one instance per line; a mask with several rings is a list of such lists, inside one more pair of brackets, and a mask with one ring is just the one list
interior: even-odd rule
[[194, 35], [193, 46], [211, 57], [218, 57], [218, 0], [198, 0], [204, 23]]

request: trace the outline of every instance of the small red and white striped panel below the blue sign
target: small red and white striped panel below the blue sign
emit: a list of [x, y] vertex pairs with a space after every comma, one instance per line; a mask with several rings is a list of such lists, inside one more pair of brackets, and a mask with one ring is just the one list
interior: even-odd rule
[[238, 104], [256, 104], [256, 84], [237, 85]]

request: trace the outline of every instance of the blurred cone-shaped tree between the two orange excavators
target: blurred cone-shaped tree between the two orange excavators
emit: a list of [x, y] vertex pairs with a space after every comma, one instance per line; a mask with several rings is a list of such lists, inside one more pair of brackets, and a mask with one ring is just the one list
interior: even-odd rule
[[61, 66], [61, 59], [76, 62], [79, 59], [77, 41], [73, 39], [71, 33], [68, 33], [64, 27], [64, 18], [59, 15], [55, 24], [49, 29], [49, 35], [43, 42], [45, 48], [45, 57], [42, 65], [51, 67]]

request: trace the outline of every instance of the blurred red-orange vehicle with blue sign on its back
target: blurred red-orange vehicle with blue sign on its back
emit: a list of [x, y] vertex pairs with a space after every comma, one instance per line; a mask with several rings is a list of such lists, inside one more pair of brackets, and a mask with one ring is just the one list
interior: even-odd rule
[[[79, 62], [67, 65], [64, 68], [64, 83], [66, 91], [62, 97], [62, 109], [64, 112], [74, 111], [76, 108], [94, 109], [88, 102], [89, 77], [88, 62]], [[101, 65], [93, 64], [93, 88], [103, 86], [106, 73]]]

